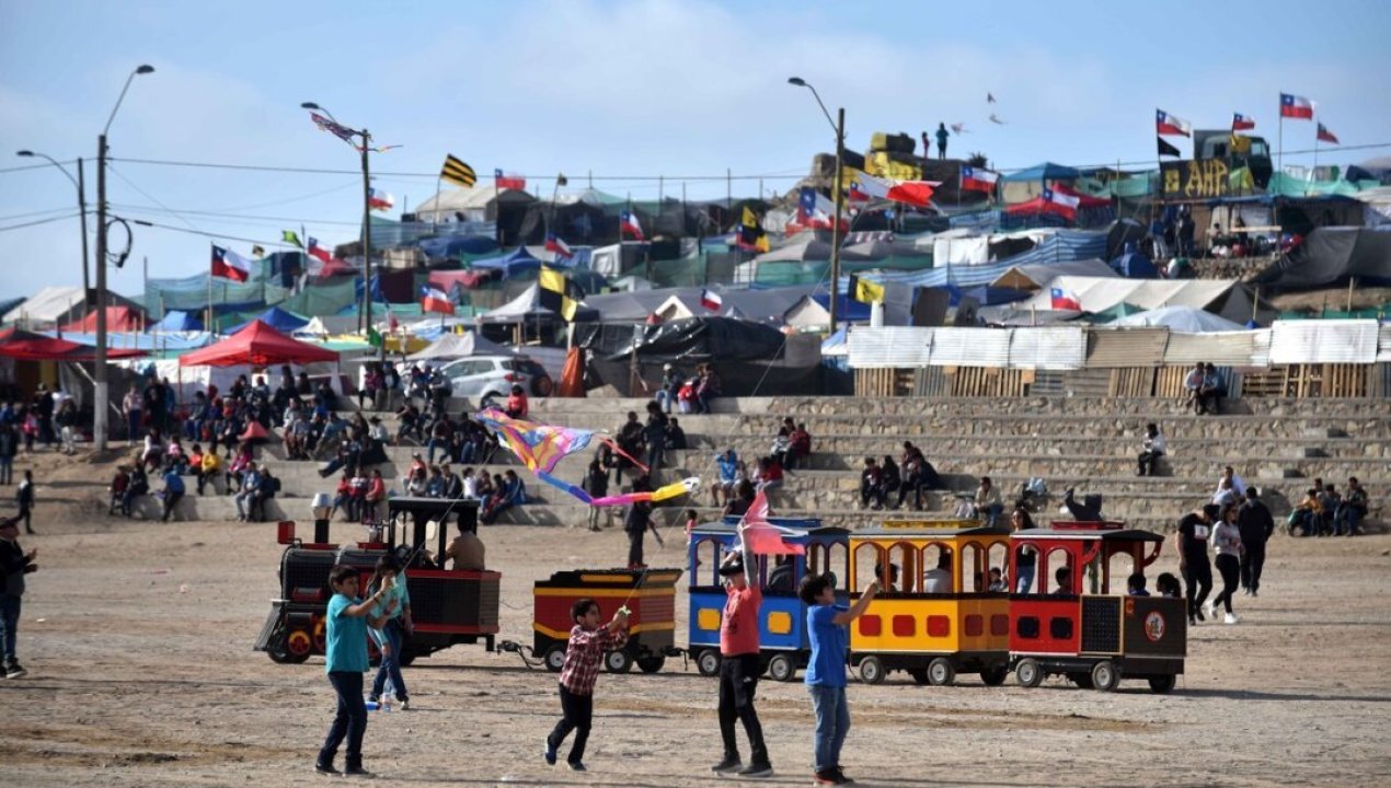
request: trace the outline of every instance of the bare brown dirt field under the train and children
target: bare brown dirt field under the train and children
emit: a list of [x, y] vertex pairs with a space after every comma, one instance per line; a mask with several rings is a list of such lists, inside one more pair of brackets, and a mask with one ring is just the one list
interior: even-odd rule
[[[274, 525], [107, 521], [82, 503], [92, 489], [78, 479], [40, 488], [50, 502], [35, 521], [40, 535], [21, 538], [39, 548], [42, 568], [21, 624], [29, 675], [0, 681], [0, 780], [327, 780], [312, 771], [334, 703], [323, 662], [277, 666], [250, 650], [277, 591]], [[353, 534], [335, 525], [335, 536]], [[626, 555], [616, 531], [501, 527], [483, 538], [504, 573], [501, 638], [522, 642], [533, 580]], [[673, 532], [655, 555], [650, 543], [654, 566], [682, 566], [677, 542]], [[1238, 596], [1239, 625], [1193, 631], [1188, 674], [1168, 696], [1061, 680], [1028, 691], [1013, 677], [1000, 688], [974, 677], [917, 687], [900, 673], [881, 687], [851, 682], [844, 767], [868, 785], [1385, 784], [1388, 553], [1391, 536], [1278, 536], [1262, 596]], [[541, 760], [559, 712], [554, 674], [460, 646], [417, 660], [406, 681], [413, 709], [373, 713], [364, 746], [366, 766], [394, 782], [707, 785], [719, 756], [715, 684], [679, 662], [655, 675], [601, 675], [583, 775]], [[810, 784], [805, 689], [765, 681], [759, 714], [771, 782]]]

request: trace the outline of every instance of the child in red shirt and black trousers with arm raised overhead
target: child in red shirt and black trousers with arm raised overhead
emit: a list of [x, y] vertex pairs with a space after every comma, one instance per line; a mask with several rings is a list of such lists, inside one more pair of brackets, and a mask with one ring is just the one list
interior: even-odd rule
[[[757, 577], [757, 559], [740, 525], [741, 546], [732, 552], [719, 567], [725, 578], [725, 613], [719, 621], [719, 735], [725, 745], [725, 757], [711, 771], [723, 774], [737, 771], [740, 777], [771, 777], [772, 762], [768, 759], [768, 745], [764, 744], [764, 728], [754, 709], [754, 695], [758, 677], [764, 668], [758, 656], [758, 606], [762, 593], [758, 582], [750, 582], [748, 571]], [[734, 720], [744, 725], [748, 735], [750, 763], [743, 767], [739, 757], [739, 742], [734, 738]]]

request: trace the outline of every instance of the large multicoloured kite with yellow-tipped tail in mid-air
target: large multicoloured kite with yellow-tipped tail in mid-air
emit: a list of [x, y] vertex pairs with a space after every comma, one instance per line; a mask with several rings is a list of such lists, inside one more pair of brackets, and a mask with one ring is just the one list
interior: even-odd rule
[[[492, 407], [479, 411], [474, 414], [474, 418], [497, 434], [506, 448], [516, 454], [519, 460], [522, 460], [527, 470], [536, 474], [536, 478], [551, 486], [563, 489], [590, 506], [629, 506], [644, 500], [658, 502], [700, 489], [700, 478], [693, 477], [679, 482], [672, 482], [651, 492], [629, 492], [623, 495], [593, 498], [580, 486], [562, 478], [556, 478], [552, 474], [561, 460], [588, 449], [590, 442], [594, 441], [597, 432], [512, 418], [510, 416]], [[598, 439], [601, 443], [606, 443], [615, 452], [619, 452], [618, 446], [615, 446], [608, 438], [600, 436]], [[619, 453], [622, 454], [622, 452]], [[623, 456], [627, 457], [627, 454]], [[633, 459], [629, 457], [629, 460]], [[633, 460], [633, 464], [644, 471], [647, 470], [647, 467], [637, 460]]]

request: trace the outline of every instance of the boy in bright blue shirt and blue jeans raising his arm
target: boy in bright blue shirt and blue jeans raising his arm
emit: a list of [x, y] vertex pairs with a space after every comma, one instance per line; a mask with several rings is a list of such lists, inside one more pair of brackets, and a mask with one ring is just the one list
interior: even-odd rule
[[836, 605], [836, 589], [826, 575], [807, 575], [797, 596], [807, 607], [807, 632], [811, 635], [811, 659], [807, 660], [807, 691], [817, 714], [812, 739], [817, 756], [817, 785], [853, 782], [840, 769], [840, 748], [850, 732], [850, 707], [846, 705], [846, 625], [858, 618], [879, 593], [874, 581], [860, 595], [854, 607]]

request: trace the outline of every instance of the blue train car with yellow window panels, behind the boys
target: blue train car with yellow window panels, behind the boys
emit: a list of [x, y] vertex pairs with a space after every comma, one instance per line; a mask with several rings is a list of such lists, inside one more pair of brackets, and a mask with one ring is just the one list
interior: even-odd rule
[[[758, 610], [758, 643], [764, 670], [778, 681], [791, 681], [807, 667], [811, 642], [807, 635], [807, 606], [797, 598], [801, 578], [829, 573], [836, 599], [849, 603], [850, 531], [823, 527], [821, 520], [769, 517], [786, 528], [783, 541], [805, 548], [804, 555], [758, 556], [748, 582], [758, 582], [764, 602]], [[689, 650], [702, 675], [719, 673], [719, 623], [725, 610], [725, 586], [719, 564], [739, 542], [739, 518], [726, 517], [691, 530], [689, 546], [690, 617]]]

